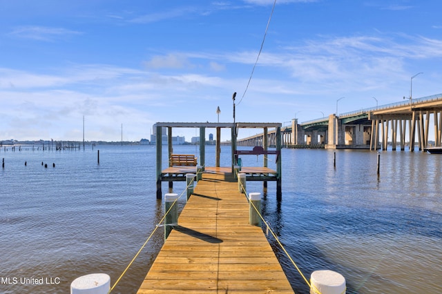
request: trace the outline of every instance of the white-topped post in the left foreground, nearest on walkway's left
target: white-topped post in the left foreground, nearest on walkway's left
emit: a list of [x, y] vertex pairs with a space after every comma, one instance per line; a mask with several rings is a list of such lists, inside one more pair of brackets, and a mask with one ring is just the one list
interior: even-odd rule
[[111, 288], [111, 277], [106, 273], [91, 273], [77, 277], [70, 283], [70, 294], [106, 294]]

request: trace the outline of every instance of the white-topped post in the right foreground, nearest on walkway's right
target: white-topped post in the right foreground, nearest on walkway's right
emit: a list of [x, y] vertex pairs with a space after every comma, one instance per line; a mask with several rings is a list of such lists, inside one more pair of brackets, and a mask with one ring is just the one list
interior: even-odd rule
[[310, 294], [344, 294], [345, 277], [336, 271], [314, 271], [310, 276]]

